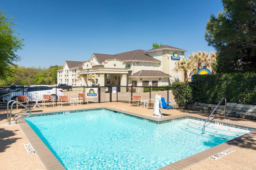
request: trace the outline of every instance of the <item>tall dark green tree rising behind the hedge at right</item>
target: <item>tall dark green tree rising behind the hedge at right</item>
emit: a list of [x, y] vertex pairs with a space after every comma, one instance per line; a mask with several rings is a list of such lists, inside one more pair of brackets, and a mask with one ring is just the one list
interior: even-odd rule
[[255, 72], [256, 1], [222, 0], [223, 12], [211, 14], [205, 39], [215, 47], [218, 73]]

